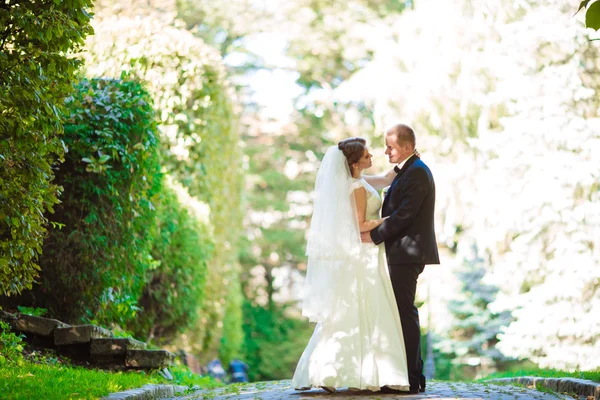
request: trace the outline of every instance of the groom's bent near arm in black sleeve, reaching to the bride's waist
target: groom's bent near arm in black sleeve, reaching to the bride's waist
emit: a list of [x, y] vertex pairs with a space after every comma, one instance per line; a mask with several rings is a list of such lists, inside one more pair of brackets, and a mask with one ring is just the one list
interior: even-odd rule
[[383, 224], [371, 231], [371, 239], [375, 244], [400, 235], [413, 222], [425, 196], [429, 193], [429, 178], [424, 169], [415, 168], [406, 173], [410, 175], [406, 176], [406, 185], [401, 188], [399, 207]]

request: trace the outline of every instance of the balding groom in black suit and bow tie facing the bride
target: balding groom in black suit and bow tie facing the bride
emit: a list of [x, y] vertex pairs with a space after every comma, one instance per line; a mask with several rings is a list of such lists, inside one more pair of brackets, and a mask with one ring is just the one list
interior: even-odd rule
[[386, 150], [396, 178], [383, 201], [383, 224], [361, 234], [365, 243], [385, 242], [385, 253], [406, 344], [410, 392], [425, 391], [421, 358], [421, 328], [415, 306], [417, 279], [425, 264], [439, 264], [433, 214], [435, 183], [431, 171], [415, 153], [415, 133], [398, 124], [385, 135]]

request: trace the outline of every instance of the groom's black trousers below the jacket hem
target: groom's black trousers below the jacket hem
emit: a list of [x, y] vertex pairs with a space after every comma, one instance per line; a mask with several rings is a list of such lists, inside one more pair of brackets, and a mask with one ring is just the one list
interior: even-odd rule
[[410, 389], [424, 387], [423, 359], [421, 358], [421, 326], [419, 310], [415, 306], [417, 279], [425, 266], [423, 264], [390, 264], [390, 278], [400, 312], [406, 359], [408, 363], [408, 381]]

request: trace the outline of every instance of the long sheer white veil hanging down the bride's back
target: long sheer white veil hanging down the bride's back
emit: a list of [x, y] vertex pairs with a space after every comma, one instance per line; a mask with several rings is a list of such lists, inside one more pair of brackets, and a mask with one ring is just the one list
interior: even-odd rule
[[360, 262], [360, 253], [352, 175], [342, 151], [332, 146], [325, 153], [315, 182], [302, 315], [311, 322], [334, 315], [336, 294], [348, 290], [336, 286], [340, 274], [353, 273], [351, 266]]

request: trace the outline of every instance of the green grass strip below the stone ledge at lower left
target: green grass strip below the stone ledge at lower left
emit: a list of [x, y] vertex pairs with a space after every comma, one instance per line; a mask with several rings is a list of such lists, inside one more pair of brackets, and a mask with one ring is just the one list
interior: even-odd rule
[[0, 366], [0, 393], [11, 400], [99, 399], [109, 393], [139, 388], [149, 383], [220, 386], [208, 377], [174, 368], [174, 380], [157, 372], [108, 372], [67, 365], [38, 364], [30, 361]]

